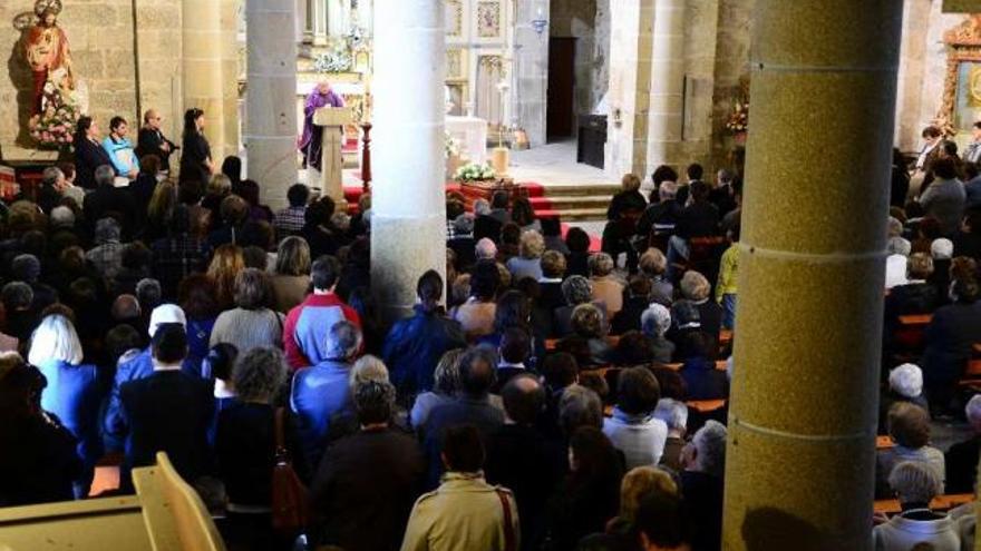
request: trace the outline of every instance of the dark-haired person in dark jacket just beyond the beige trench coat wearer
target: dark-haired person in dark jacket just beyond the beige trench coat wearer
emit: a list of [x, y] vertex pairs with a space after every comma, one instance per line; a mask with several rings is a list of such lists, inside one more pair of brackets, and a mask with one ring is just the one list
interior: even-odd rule
[[504, 424], [504, 415], [490, 403], [488, 395], [494, 385], [496, 368], [494, 353], [486, 348], [470, 348], [460, 358], [460, 395], [453, 402], [436, 406], [422, 426], [422, 441], [429, 463], [427, 488], [436, 488], [443, 475], [440, 451], [446, 429], [464, 424], [474, 425], [487, 442]]

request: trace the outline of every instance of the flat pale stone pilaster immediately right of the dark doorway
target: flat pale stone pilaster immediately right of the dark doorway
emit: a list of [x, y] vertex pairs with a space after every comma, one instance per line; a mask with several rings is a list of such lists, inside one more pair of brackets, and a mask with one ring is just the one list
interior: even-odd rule
[[654, 0], [611, 0], [606, 174], [647, 173]]

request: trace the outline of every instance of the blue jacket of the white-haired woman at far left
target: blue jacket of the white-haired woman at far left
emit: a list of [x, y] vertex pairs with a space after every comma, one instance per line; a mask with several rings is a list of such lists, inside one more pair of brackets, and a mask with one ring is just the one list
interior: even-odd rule
[[99, 388], [97, 367], [49, 360], [38, 368], [48, 380], [48, 386], [41, 392], [41, 407], [58, 415], [61, 424], [78, 440], [78, 457], [84, 468], [94, 469], [103, 456], [99, 435], [103, 390]]

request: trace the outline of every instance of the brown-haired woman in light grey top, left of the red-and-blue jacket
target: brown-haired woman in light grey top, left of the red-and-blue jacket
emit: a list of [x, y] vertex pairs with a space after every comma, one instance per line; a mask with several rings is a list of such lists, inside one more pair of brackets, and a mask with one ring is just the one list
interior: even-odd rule
[[255, 268], [235, 277], [235, 308], [222, 312], [211, 333], [211, 345], [230, 343], [244, 354], [256, 347], [281, 348], [283, 314], [271, 309], [269, 276]]

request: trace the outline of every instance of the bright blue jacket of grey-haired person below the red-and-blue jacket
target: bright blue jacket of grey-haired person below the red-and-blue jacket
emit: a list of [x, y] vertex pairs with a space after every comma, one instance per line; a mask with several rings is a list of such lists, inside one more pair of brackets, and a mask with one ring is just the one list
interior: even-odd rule
[[349, 372], [349, 364], [324, 360], [293, 375], [290, 407], [297, 414], [300, 441], [310, 465], [320, 463], [331, 417], [352, 410]]

